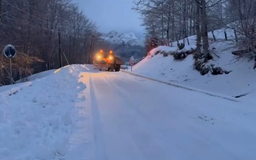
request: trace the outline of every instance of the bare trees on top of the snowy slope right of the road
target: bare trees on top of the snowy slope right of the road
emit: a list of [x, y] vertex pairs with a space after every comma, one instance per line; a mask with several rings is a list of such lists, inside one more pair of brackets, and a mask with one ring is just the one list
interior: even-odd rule
[[243, 53], [240, 56], [256, 60], [255, 0], [133, 0], [133, 3], [132, 9], [141, 14], [142, 25], [146, 27], [147, 51], [157, 46], [156, 41], [185, 41], [186, 37], [197, 35], [195, 57], [198, 67], [203, 68], [212, 59], [207, 33], [232, 29], [236, 38], [230, 41]]

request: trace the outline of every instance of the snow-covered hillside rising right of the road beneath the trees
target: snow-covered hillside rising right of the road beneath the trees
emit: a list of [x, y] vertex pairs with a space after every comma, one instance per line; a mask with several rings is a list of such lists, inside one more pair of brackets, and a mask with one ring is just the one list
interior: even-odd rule
[[[256, 72], [253, 70], [254, 61], [248, 59], [237, 60], [237, 56], [231, 54], [236, 50], [233, 43], [230, 42], [234, 38], [232, 30], [226, 30], [227, 38], [225, 40], [224, 30], [219, 29], [214, 31], [217, 38], [213, 42], [212, 33], [209, 32], [211, 52], [214, 60], [209, 61], [210, 64], [220, 66], [221, 68], [232, 71], [229, 74], [212, 75], [208, 73], [204, 76], [193, 68], [193, 56], [188, 55], [183, 61], [174, 60], [173, 56], [164, 57], [163, 54], [155, 55], [156, 51], [173, 51], [177, 50], [177, 42], [173, 43], [175, 47], [160, 46], [153, 49], [150, 54], [141, 62], [133, 66], [133, 72], [142, 74], [148, 77], [156, 78], [162, 81], [175, 82], [191, 87], [218, 92], [228, 96], [245, 95], [239, 99], [251, 99], [253, 101], [256, 96]], [[196, 36], [188, 37], [189, 44], [196, 44]], [[182, 43], [180, 40], [179, 43]], [[187, 40], [185, 41], [186, 46]], [[185, 46], [185, 47], [186, 47]], [[214, 48], [214, 49], [213, 49]]]

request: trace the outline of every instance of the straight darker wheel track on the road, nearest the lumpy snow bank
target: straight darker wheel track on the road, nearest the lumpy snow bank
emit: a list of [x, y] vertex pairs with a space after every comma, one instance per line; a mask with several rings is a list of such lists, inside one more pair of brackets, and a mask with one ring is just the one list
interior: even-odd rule
[[94, 152], [96, 160], [108, 160], [105, 150], [105, 140], [103, 135], [102, 123], [100, 120], [100, 113], [98, 109], [98, 104], [95, 98], [95, 92], [93, 88], [92, 78], [89, 77], [90, 83], [90, 95], [91, 95], [91, 108], [92, 108], [92, 124], [94, 132]]

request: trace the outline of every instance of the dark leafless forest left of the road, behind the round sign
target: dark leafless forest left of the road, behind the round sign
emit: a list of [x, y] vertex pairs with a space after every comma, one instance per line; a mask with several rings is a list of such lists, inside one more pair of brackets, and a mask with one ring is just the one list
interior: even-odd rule
[[63, 66], [88, 63], [92, 35], [94, 49], [104, 43], [96, 24], [70, 0], [0, 0], [0, 86], [10, 82], [9, 59], [2, 54], [7, 44], [17, 50], [13, 81], [59, 68], [58, 30]]

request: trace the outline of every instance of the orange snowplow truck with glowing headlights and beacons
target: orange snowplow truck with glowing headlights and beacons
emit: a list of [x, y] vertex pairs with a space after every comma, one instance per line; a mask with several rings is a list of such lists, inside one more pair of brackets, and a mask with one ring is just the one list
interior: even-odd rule
[[121, 68], [122, 60], [121, 57], [115, 56], [113, 51], [109, 53], [100, 50], [100, 53], [93, 57], [93, 67], [100, 71], [107, 70], [111, 72], [119, 72]]

